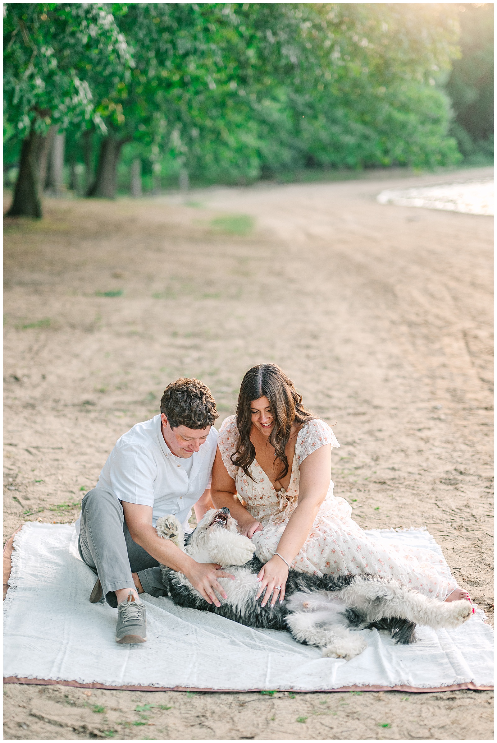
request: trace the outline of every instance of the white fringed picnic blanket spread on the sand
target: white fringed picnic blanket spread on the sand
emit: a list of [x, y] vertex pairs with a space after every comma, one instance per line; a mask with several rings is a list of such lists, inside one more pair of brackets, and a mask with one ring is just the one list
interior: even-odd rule
[[[426, 531], [369, 531], [441, 550]], [[74, 525], [27, 523], [14, 538], [4, 603], [4, 676], [108, 686], [224, 690], [332, 690], [493, 684], [493, 632], [481, 611], [455, 630], [418, 627], [418, 643], [394, 645], [363, 630], [357, 658], [322, 658], [287, 632], [250, 629], [143, 594], [148, 642], [117, 645], [117, 611], [91, 604], [95, 577], [77, 554]]]

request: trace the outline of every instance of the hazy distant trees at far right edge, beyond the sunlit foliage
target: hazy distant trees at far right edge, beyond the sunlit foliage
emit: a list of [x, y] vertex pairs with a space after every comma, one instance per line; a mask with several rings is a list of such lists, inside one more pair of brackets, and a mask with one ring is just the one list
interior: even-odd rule
[[455, 110], [452, 134], [466, 158], [493, 156], [493, 3], [458, 6], [461, 59], [447, 83]]

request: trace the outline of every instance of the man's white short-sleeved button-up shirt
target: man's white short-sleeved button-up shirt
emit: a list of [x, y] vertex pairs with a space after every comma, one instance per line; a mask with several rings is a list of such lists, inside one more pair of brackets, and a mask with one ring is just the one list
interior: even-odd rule
[[152, 506], [154, 526], [160, 516], [171, 513], [187, 529], [192, 505], [209, 487], [217, 445], [218, 432], [212, 426], [198, 452], [185, 460], [176, 457], [164, 441], [160, 415], [155, 415], [118, 439], [97, 487], [110, 490], [120, 501]]

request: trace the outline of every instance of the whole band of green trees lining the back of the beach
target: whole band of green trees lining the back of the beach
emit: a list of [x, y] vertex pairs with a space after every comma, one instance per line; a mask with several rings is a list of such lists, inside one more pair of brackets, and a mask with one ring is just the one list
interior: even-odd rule
[[492, 4], [4, 9], [13, 214], [41, 215], [46, 189], [112, 198], [493, 154]]

